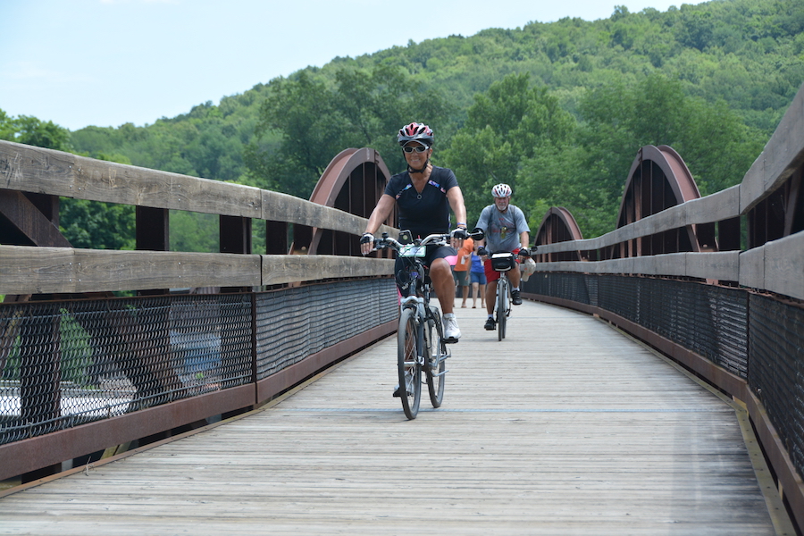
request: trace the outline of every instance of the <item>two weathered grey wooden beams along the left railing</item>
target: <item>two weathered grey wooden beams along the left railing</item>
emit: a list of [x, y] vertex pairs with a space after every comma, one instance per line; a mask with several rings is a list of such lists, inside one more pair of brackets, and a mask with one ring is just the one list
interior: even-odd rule
[[[360, 235], [366, 220], [278, 192], [0, 141], [0, 188]], [[142, 219], [154, 214], [138, 214]], [[393, 235], [395, 230], [383, 227]], [[269, 237], [275, 235], [269, 234]], [[389, 261], [335, 255], [228, 255], [0, 245], [0, 294], [260, 287], [389, 274]]]

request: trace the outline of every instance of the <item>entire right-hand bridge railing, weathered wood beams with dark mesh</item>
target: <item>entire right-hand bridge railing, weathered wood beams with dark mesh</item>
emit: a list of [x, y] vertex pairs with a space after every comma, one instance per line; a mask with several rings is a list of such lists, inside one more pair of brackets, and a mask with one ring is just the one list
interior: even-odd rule
[[[802, 176], [804, 89], [741, 184], [595, 239], [540, 244], [537, 272], [523, 287], [527, 297], [615, 323], [740, 400], [800, 526], [804, 526]], [[734, 237], [740, 224], [745, 230], [744, 249], [737, 246], [739, 233]], [[693, 226], [706, 225], [716, 226], [719, 241], [728, 242], [726, 248], [733, 250], [639, 255], [649, 249], [640, 246], [660, 233], [692, 234]], [[612, 258], [612, 251], [621, 258]]]

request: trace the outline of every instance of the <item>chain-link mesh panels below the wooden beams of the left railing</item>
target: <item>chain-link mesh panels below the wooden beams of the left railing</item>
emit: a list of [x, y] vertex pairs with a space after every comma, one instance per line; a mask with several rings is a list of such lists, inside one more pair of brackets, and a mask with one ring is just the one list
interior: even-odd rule
[[0, 445], [258, 381], [397, 315], [390, 279], [0, 304]]

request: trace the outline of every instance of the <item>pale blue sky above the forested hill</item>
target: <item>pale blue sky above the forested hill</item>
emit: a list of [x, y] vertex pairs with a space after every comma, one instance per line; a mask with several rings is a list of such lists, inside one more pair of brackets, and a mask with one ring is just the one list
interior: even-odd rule
[[[688, 0], [684, 4], [699, 4]], [[0, 0], [0, 109], [70, 129], [142, 126], [409, 40], [672, 0]]]

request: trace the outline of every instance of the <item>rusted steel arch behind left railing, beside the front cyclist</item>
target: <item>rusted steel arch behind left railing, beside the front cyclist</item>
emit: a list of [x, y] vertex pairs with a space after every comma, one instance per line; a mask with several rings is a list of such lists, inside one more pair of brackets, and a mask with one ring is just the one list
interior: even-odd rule
[[[385, 191], [390, 173], [380, 153], [370, 147], [341, 151], [315, 185], [310, 201], [368, 218]], [[385, 222], [396, 227], [393, 211]], [[361, 256], [358, 241], [345, 232], [294, 226], [290, 253]]]

